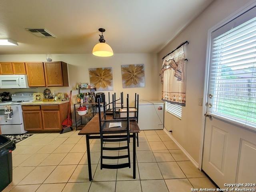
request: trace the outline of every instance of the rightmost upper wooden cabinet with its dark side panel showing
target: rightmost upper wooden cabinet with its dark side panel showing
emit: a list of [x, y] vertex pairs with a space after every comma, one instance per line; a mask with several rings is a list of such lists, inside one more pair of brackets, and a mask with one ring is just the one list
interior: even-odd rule
[[68, 67], [65, 62], [44, 62], [46, 86], [68, 86]]

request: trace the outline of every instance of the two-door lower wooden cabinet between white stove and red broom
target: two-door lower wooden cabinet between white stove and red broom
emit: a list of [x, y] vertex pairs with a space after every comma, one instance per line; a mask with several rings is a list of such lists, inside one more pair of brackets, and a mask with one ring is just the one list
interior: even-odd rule
[[24, 105], [22, 111], [26, 131], [60, 131], [67, 116], [68, 102], [59, 105]]

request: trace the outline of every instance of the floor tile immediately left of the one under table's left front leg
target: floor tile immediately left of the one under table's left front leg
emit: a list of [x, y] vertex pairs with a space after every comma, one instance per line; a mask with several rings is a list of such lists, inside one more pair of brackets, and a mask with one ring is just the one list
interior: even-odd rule
[[48, 178], [44, 181], [44, 183], [68, 182], [75, 168], [76, 168], [76, 165], [59, 165], [48, 176]]

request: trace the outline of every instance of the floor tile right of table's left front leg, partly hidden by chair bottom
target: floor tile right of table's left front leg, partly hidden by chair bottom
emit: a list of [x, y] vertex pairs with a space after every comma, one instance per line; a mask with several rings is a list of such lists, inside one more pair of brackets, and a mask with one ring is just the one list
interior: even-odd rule
[[100, 169], [100, 164], [98, 165], [96, 172], [94, 174], [94, 181], [115, 181], [116, 180], [116, 169]]

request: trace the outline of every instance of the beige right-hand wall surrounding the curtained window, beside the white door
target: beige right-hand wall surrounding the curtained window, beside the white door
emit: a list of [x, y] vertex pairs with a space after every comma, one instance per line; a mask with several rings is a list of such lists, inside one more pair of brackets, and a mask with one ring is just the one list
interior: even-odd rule
[[[186, 107], [182, 107], [182, 120], [165, 113], [164, 124], [179, 144], [199, 162], [200, 143], [202, 141], [202, 106], [198, 99], [204, 94], [204, 72], [208, 29], [238, 10], [249, 0], [215, 0], [178, 36], [158, 53], [158, 71], [162, 65], [162, 57], [174, 50], [180, 43], [188, 40], [185, 54], [187, 64]], [[160, 82], [160, 78], [158, 80]], [[162, 85], [158, 84], [160, 92]]]

